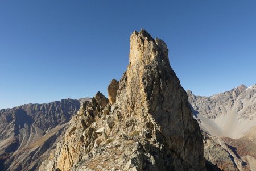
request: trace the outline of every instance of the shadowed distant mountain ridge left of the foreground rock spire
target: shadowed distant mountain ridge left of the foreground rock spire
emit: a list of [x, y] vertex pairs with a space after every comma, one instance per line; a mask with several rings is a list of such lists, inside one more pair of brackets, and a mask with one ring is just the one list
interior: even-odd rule
[[64, 99], [0, 110], [0, 170], [36, 170], [79, 107]]

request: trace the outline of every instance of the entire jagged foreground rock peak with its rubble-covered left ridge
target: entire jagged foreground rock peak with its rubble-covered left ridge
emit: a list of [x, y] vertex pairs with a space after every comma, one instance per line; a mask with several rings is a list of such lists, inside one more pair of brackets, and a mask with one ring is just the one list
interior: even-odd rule
[[73, 116], [39, 170], [205, 170], [203, 137], [166, 44], [130, 37], [127, 71]]

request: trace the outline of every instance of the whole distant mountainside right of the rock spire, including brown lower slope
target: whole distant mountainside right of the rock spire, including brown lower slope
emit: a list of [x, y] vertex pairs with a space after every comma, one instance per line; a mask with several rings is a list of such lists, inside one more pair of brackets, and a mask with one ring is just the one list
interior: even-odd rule
[[256, 170], [256, 85], [210, 97], [187, 94], [203, 131], [205, 159], [223, 170]]

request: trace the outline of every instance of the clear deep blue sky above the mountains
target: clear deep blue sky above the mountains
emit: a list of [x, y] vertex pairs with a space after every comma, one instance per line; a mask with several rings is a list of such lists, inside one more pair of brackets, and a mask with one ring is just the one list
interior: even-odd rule
[[253, 85], [255, 9], [255, 0], [0, 1], [0, 109], [108, 95], [141, 28], [167, 43], [185, 90]]

